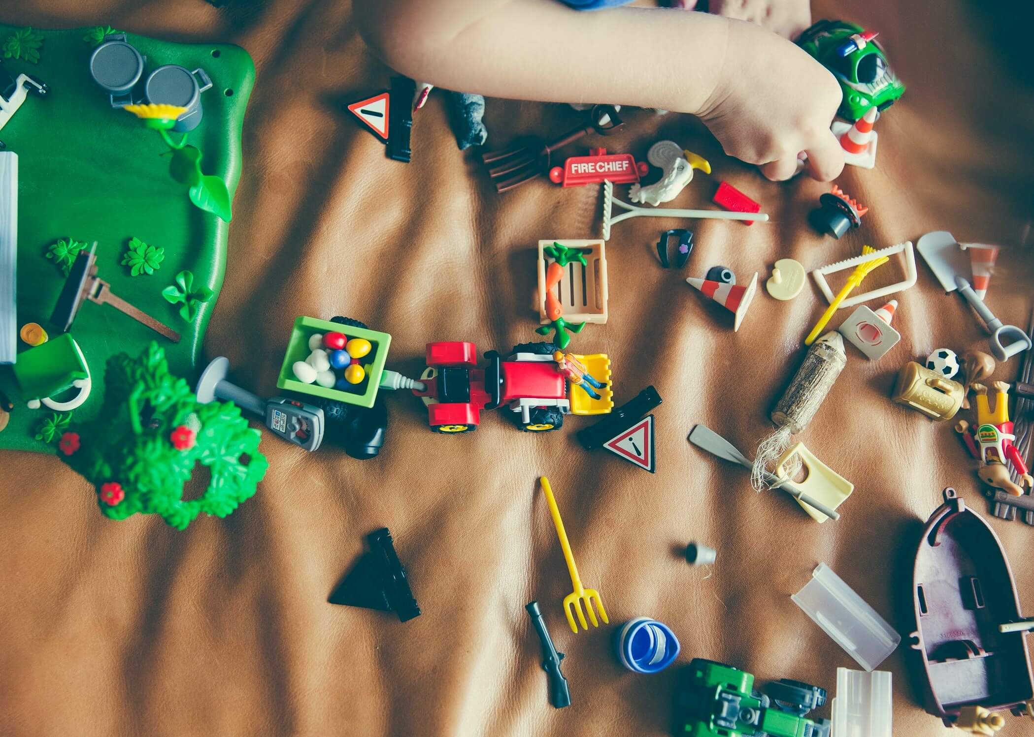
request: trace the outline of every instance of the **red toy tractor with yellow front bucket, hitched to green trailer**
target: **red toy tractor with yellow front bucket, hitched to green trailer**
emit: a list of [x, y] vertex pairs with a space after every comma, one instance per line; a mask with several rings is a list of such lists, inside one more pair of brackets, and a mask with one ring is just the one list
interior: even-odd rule
[[[585, 373], [602, 384], [594, 398], [589, 391], [568, 390], [565, 374], [554, 358], [552, 343], [522, 343], [504, 360], [488, 351], [488, 365], [478, 367], [478, 349], [459, 341], [427, 344], [427, 369], [420, 380], [423, 391], [414, 389], [427, 406], [427, 419], [436, 432], [467, 432], [477, 429], [482, 410], [507, 405], [517, 424], [528, 432], [559, 429], [564, 415], [599, 415], [614, 403], [610, 387], [610, 359], [604, 354], [568, 354]], [[590, 387], [591, 388], [591, 387]]]

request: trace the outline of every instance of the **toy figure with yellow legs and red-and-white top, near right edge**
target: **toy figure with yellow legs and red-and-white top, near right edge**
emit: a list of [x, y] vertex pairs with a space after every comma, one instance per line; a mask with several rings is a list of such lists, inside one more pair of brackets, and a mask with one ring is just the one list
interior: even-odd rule
[[[995, 409], [987, 400], [987, 387], [973, 384], [976, 393], [977, 426], [972, 431], [966, 420], [955, 423], [955, 431], [966, 442], [966, 447], [980, 461], [977, 476], [990, 486], [1003, 489], [1014, 496], [1024, 493], [1024, 486], [1034, 484], [1034, 478], [1027, 473], [1027, 463], [1020, 449], [1012, 444], [1012, 423], [1009, 421], [1009, 385], [1004, 381], [995, 382]], [[1010, 472], [1015, 471], [1020, 483], [1013, 483]]]

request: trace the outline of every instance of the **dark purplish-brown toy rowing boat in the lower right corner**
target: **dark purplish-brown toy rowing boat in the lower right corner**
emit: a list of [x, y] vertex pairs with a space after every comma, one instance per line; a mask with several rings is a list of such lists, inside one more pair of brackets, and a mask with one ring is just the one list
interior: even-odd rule
[[915, 555], [916, 631], [930, 686], [927, 710], [948, 727], [965, 706], [1023, 713], [1034, 704], [1016, 586], [998, 536], [953, 488], [926, 521]]

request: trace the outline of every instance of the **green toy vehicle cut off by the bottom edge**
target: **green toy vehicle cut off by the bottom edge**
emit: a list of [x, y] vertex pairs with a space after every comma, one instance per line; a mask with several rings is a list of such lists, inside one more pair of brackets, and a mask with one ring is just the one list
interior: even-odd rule
[[754, 676], [695, 658], [675, 692], [675, 734], [682, 737], [829, 737], [828, 719], [804, 715], [826, 703], [826, 692], [786, 678], [754, 691]]

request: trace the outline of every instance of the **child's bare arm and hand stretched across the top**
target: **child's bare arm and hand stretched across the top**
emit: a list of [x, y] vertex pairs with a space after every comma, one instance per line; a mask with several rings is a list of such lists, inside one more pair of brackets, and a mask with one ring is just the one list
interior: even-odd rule
[[452, 90], [611, 102], [700, 116], [727, 154], [769, 179], [844, 166], [829, 132], [832, 74], [748, 23], [683, 10], [578, 12], [556, 0], [355, 0], [370, 45], [403, 74]]

